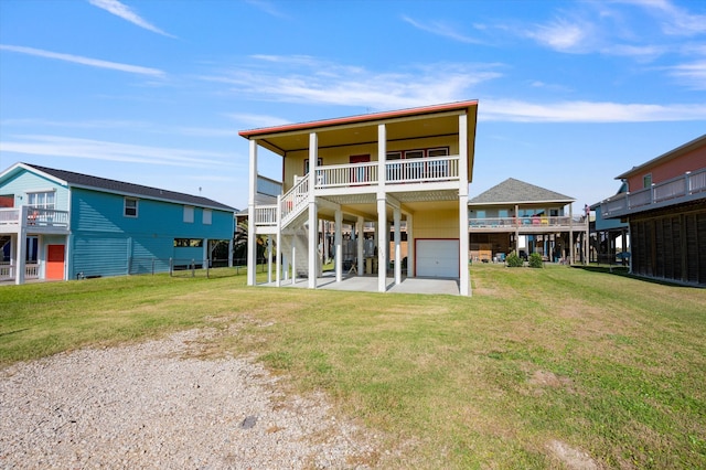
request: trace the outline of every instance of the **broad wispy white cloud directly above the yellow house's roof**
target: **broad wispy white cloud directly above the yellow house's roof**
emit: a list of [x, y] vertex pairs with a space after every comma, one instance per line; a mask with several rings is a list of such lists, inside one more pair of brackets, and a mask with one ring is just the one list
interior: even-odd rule
[[287, 57], [267, 60], [285, 65], [263, 71], [255, 64], [201, 78], [224, 83], [234, 93], [258, 99], [384, 110], [468, 99], [477, 85], [502, 76], [495, 71], [498, 64], [428, 64], [400, 72], [373, 72], [312, 57], [306, 66], [291, 68]]

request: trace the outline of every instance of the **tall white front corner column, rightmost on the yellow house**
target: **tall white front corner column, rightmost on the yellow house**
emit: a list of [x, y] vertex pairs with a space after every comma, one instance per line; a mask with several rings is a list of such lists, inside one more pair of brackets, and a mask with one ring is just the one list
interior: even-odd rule
[[468, 273], [468, 116], [459, 116], [459, 293], [471, 295]]

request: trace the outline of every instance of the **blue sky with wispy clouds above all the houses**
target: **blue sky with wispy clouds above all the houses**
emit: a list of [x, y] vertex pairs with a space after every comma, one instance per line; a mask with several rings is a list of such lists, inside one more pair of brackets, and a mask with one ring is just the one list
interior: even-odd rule
[[238, 130], [466, 99], [471, 196], [516, 178], [580, 210], [706, 132], [706, 1], [0, 1], [2, 170], [243, 209]]

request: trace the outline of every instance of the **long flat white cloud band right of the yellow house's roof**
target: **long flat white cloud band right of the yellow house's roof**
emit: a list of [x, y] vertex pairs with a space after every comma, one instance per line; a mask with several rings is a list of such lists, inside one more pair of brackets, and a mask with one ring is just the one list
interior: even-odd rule
[[515, 122], [661, 122], [706, 119], [706, 104], [651, 105], [607, 102], [536, 104], [481, 99], [479, 120]]

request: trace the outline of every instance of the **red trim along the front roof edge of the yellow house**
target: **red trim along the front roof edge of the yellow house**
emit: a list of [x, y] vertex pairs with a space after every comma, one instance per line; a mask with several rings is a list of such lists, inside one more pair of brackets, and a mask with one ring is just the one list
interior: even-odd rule
[[382, 111], [382, 113], [372, 113], [367, 115], [347, 116], [343, 118], [322, 119], [322, 120], [314, 120], [309, 122], [287, 124], [284, 126], [276, 126], [276, 127], [264, 127], [259, 129], [242, 130], [238, 132], [238, 135], [249, 139], [250, 137], [263, 136], [268, 133], [289, 132], [292, 130], [313, 129], [317, 127], [331, 127], [331, 126], [340, 126], [344, 124], [366, 122], [366, 121], [374, 121], [379, 119], [391, 119], [391, 118], [405, 117], [405, 116], [441, 113], [441, 111], [448, 111], [453, 109], [469, 108], [471, 106], [478, 106], [478, 99], [472, 99], [468, 102], [448, 103], [443, 105], [422, 106], [418, 108], [408, 108], [408, 109], [400, 109], [395, 111]]

